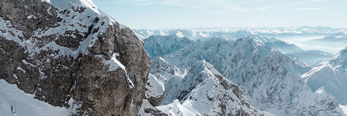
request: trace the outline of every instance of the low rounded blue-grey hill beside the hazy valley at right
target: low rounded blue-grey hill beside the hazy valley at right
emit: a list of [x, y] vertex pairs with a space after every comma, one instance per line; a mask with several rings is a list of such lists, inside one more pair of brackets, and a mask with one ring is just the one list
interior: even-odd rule
[[314, 66], [317, 63], [332, 58], [334, 55], [328, 52], [319, 50], [300, 50], [290, 53], [284, 53], [283, 55], [288, 56], [292, 59], [299, 58], [308, 66]]

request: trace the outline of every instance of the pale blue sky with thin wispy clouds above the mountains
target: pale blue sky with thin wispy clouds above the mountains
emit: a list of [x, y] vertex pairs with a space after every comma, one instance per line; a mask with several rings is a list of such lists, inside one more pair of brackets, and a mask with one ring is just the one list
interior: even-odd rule
[[347, 28], [347, 0], [92, 0], [133, 29], [189, 27]]

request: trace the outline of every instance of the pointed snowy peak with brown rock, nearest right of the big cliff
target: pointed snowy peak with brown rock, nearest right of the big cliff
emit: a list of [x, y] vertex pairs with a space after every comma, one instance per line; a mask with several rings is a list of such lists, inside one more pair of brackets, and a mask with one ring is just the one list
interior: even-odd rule
[[163, 105], [143, 104], [141, 116], [273, 116], [250, 106], [242, 91], [205, 60], [193, 65], [185, 77], [170, 78], [165, 88]]

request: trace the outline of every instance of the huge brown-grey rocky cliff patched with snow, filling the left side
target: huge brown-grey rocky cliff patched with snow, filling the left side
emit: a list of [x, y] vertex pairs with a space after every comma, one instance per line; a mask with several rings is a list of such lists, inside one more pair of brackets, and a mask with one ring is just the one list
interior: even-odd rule
[[137, 114], [152, 63], [129, 27], [90, 0], [0, 2], [1, 79], [73, 115]]

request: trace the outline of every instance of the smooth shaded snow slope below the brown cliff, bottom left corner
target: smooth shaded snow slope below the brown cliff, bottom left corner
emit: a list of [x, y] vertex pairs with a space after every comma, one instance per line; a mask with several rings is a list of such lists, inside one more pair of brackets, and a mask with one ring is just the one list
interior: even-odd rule
[[[44, 101], [34, 99], [35, 95], [25, 93], [15, 84], [0, 79], [0, 114], [2, 116], [69, 116], [76, 110], [74, 100], [69, 101], [70, 108], [54, 107]], [[12, 110], [11, 110], [12, 107]]]

